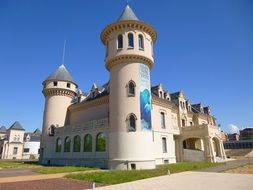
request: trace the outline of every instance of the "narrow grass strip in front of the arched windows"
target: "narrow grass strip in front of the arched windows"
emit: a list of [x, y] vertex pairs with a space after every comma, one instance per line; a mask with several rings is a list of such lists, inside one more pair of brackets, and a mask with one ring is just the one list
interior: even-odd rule
[[68, 173], [68, 172], [80, 172], [88, 170], [98, 170], [98, 168], [87, 168], [79, 166], [52, 166], [35, 169], [34, 172], [41, 174], [57, 174], [57, 173]]

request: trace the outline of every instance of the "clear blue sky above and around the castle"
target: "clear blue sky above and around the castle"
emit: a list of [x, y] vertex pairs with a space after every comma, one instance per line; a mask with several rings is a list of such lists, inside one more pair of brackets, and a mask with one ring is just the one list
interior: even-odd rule
[[[253, 1], [130, 0], [158, 33], [152, 85], [211, 105], [223, 130], [253, 127]], [[65, 64], [84, 91], [109, 75], [100, 32], [124, 0], [0, 0], [0, 125], [41, 128], [42, 81]]]

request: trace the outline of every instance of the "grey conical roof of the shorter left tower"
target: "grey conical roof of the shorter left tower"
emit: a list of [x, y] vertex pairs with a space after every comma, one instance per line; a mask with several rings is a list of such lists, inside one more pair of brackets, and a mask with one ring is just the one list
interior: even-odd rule
[[47, 80], [60, 80], [76, 84], [64, 65], [61, 65], [51, 75], [49, 75], [45, 81]]

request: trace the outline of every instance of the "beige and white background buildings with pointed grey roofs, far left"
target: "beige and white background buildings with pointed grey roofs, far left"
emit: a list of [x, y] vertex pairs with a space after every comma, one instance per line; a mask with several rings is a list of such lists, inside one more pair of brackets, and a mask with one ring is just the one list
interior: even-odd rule
[[10, 128], [0, 128], [0, 159], [38, 159], [41, 131], [25, 133], [16, 121]]

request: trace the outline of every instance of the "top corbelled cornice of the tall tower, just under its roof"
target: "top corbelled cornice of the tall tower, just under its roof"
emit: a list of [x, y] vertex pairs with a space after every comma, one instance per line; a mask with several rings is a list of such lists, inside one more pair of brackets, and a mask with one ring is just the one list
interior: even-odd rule
[[152, 26], [137, 20], [120, 21], [106, 26], [105, 29], [101, 32], [101, 41], [105, 45], [108, 37], [112, 32], [126, 28], [133, 30], [142, 30], [151, 36], [153, 42], [156, 41], [157, 34], [155, 29]]

